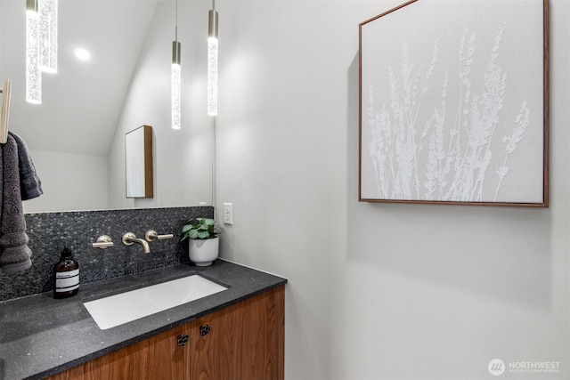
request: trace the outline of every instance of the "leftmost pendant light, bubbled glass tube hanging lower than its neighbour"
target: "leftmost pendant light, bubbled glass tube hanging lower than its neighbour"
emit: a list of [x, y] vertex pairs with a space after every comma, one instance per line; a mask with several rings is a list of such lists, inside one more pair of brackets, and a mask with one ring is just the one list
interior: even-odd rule
[[42, 102], [39, 22], [37, 0], [26, 0], [26, 101], [33, 104]]

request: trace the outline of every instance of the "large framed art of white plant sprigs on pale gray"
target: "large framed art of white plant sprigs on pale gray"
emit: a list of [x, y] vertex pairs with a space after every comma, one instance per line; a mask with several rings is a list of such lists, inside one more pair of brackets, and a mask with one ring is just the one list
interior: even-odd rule
[[548, 0], [412, 0], [359, 27], [360, 201], [548, 206]]

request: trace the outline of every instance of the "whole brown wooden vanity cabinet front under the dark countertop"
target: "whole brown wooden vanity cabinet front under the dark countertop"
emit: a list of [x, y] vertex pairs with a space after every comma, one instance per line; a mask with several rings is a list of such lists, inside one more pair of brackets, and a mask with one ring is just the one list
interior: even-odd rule
[[48, 379], [283, 379], [284, 311], [281, 286]]

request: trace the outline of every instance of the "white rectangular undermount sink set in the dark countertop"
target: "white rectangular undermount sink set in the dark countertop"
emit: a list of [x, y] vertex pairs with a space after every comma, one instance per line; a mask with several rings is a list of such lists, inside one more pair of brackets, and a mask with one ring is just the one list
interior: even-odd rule
[[226, 290], [199, 275], [172, 279], [84, 303], [102, 330]]

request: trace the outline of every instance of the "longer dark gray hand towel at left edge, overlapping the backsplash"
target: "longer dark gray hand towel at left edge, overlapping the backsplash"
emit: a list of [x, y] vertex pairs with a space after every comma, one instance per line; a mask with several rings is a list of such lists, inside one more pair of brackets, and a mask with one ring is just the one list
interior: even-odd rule
[[24, 271], [32, 262], [26, 221], [21, 206], [18, 144], [11, 135], [0, 155], [0, 268], [4, 273]]

